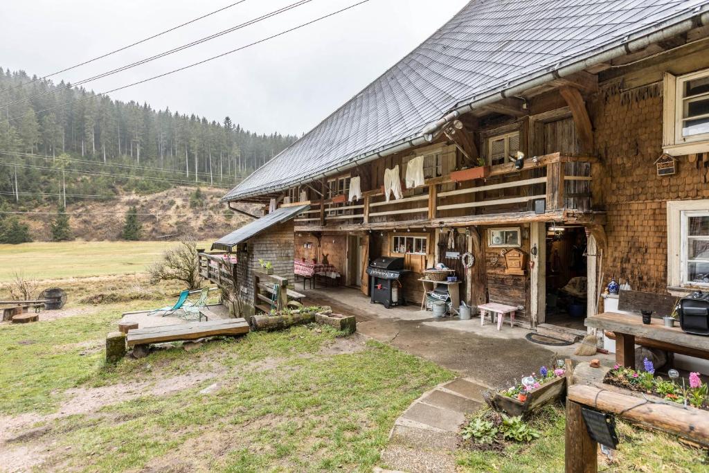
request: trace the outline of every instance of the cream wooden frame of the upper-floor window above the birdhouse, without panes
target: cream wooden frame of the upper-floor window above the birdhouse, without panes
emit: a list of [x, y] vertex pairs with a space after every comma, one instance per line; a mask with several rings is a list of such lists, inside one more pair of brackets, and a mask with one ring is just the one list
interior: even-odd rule
[[683, 93], [686, 82], [709, 77], [709, 69], [675, 76], [664, 74], [664, 101], [662, 113], [662, 150], [672, 156], [709, 152], [709, 133], [682, 136]]

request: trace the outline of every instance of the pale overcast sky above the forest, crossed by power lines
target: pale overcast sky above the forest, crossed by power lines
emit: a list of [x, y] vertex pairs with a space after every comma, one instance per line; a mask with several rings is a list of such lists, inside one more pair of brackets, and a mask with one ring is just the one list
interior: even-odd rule
[[[0, 0], [0, 67], [50, 74], [236, 0]], [[245, 0], [116, 55], [51, 77], [77, 80], [217, 33], [296, 0]], [[311, 21], [358, 0], [312, 0], [252, 26], [86, 84], [107, 91]], [[218, 60], [111, 94], [155, 108], [230, 116], [259, 133], [313, 128], [448, 21], [467, 0], [369, 0], [352, 10]]]

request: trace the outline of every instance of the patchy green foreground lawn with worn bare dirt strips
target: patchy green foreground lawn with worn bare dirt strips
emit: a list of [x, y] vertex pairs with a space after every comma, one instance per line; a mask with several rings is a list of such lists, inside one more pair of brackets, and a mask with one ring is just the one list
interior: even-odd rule
[[34, 416], [7, 445], [36, 452], [35, 469], [371, 471], [396, 417], [453, 377], [319, 326], [105, 366], [102, 338], [128, 308], [0, 325], [0, 415]]

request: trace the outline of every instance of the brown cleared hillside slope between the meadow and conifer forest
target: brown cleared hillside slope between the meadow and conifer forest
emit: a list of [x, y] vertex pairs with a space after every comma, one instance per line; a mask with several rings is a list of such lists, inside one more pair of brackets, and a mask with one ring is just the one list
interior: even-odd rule
[[[125, 213], [131, 206], [137, 208], [138, 220], [143, 225], [141, 240], [177, 240], [182, 235], [192, 235], [208, 241], [250, 221], [250, 218], [219, 204], [224, 189], [203, 187], [200, 191], [200, 199], [204, 200], [199, 201], [191, 200], [194, 199], [194, 188], [175, 187], [149, 195], [128, 194], [119, 199], [68, 204], [72, 235], [86, 241], [118, 240]], [[251, 206], [245, 210], [255, 213], [258, 208]], [[43, 205], [34, 211], [49, 215], [21, 216], [21, 221], [30, 227], [33, 240], [51, 240], [50, 223], [57, 207]]]

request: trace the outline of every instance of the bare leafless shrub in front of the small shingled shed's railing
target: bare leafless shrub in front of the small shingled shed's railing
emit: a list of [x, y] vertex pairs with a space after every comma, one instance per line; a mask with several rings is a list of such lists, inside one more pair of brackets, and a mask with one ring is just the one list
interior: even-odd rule
[[199, 288], [199, 262], [197, 242], [194, 238], [183, 238], [179, 245], [162, 254], [162, 259], [147, 268], [150, 281], [182, 281], [187, 289]]

